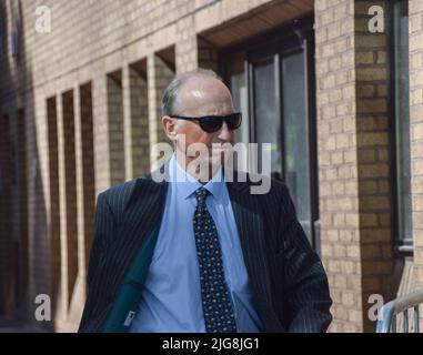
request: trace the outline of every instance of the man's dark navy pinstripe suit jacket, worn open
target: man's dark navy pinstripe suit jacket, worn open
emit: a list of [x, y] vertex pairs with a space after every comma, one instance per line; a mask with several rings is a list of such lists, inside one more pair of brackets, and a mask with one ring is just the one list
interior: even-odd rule
[[[265, 332], [325, 332], [332, 321], [326, 274], [296, 220], [286, 186], [272, 180], [269, 193], [253, 195], [249, 176], [236, 182], [235, 174], [233, 181], [228, 190]], [[79, 332], [102, 329], [137, 252], [161, 221], [167, 186], [149, 174], [98, 196]]]

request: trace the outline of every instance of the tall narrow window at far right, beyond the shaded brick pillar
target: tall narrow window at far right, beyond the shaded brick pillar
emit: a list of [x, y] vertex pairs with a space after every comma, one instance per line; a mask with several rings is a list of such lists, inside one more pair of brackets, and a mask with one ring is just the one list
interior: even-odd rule
[[409, 1], [392, 3], [392, 80], [395, 139], [397, 248], [411, 252], [412, 202], [410, 163]]

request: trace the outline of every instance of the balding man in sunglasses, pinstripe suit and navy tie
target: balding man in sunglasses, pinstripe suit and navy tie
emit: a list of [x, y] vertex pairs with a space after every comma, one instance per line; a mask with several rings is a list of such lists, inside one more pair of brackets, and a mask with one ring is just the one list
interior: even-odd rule
[[[167, 179], [98, 196], [80, 332], [325, 332], [328, 278], [286, 186], [252, 194], [249, 175], [226, 179], [213, 146], [232, 144], [241, 124], [229, 89], [212, 71], [184, 73], [162, 111], [175, 150]], [[188, 154], [197, 143], [205, 173]]]

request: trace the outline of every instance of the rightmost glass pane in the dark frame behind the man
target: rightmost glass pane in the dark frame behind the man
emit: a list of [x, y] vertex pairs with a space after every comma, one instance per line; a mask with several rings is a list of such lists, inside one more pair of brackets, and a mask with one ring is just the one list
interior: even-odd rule
[[285, 181], [296, 213], [310, 235], [310, 154], [304, 52], [282, 58]]

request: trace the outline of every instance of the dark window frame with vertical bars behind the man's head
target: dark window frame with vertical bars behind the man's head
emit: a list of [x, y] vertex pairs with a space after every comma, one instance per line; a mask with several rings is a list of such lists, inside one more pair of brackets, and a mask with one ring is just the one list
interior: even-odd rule
[[[243, 58], [245, 83], [248, 87], [248, 110], [250, 116], [249, 141], [256, 142], [256, 119], [254, 110], [254, 65], [259, 62], [273, 60], [275, 90], [276, 90], [276, 114], [281, 119], [280, 128], [280, 159], [282, 165], [282, 179], [285, 180], [286, 163], [283, 152], [285, 151], [283, 94], [281, 63], [283, 55], [304, 51], [305, 57], [305, 98], [306, 98], [306, 130], [309, 153], [309, 185], [310, 185], [310, 242], [313, 248], [321, 254], [320, 244], [320, 216], [319, 216], [319, 168], [318, 168], [318, 132], [316, 132], [316, 88], [314, 64], [314, 17], [308, 16], [296, 19], [291, 23], [276, 30], [255, 36], [248, 41], [223, 49], [219, 53], [219, 72], [224, 82], [230, 87], [230, 70], [228, 63], [239, 55]], [[240, 53], [243, 54], [240, 54]]]

